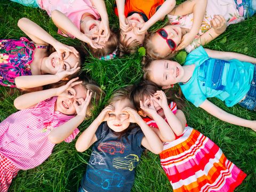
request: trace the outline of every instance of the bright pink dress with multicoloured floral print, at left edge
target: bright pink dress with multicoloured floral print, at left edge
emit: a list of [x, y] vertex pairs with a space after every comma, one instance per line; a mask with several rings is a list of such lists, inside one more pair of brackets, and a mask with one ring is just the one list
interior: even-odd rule
[[45, 45], [35, 45], [27, 38], [0, 39], [0, 84], [15, 87], [18, 76], [31, 75], [30, 63], [36, 48], [46, 49]]

